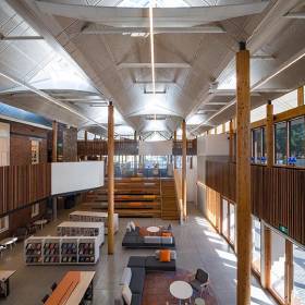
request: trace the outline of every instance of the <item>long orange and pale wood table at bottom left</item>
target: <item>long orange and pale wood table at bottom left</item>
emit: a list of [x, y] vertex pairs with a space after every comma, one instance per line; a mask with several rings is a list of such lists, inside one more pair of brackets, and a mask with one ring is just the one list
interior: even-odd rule
[[46, 305], [77, 305], [88, 289], [93, 297], [93, 279], [95, 271], [69, 271], [47, 300]]

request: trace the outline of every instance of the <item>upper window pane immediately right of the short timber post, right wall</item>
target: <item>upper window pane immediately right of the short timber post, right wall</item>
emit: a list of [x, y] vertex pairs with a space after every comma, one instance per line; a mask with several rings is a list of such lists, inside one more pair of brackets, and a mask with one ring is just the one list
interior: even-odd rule
[[286, 122], [276, 124], [276, 163], [286, 164], [288, 127]]

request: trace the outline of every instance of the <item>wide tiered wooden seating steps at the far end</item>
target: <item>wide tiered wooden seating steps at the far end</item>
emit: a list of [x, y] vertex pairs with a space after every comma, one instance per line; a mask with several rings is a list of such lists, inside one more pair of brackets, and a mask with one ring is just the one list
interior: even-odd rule
[[[108, 208], [108, 185], [86, 196], [85, 209]], [[160, 179], [123, 178], [114, 181], [114, 211], [120, 217], [161, 217]]]

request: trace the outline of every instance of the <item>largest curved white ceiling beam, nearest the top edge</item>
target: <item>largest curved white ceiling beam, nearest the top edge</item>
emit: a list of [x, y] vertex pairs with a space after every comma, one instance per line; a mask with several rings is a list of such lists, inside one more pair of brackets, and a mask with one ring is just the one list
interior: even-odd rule
[[[154, 8], [154, 27], [203, 25], [210, 22], [261, 13], [270, 1], [199, 8]], [[42, 13], [109, 26], [149, 27], [148, 8], [106, 8], [35, 1]]]

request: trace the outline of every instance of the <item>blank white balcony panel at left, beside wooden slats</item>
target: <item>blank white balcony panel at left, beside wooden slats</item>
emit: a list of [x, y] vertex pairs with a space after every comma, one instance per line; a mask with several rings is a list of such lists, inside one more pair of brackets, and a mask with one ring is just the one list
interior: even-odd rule
[[103, 161], [52, 163], [51, 194], [95, 188], [103, 185]]

